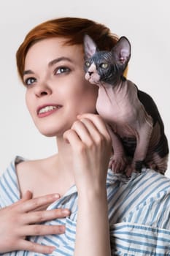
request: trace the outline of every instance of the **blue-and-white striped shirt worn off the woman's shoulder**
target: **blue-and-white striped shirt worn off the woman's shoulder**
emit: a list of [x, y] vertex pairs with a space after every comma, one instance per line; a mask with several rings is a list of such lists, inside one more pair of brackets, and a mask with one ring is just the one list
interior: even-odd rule
[[[23, 161], [16, 157], [0, 178], [0, 207], [20, 199], [15, 165]], [[119, 174], [107, 173], [110, 241], [113, 255], [170, 255], [170, 180], [153, 170], [133, 173], [127, 181]], [[65, 225], [66, 233], [31, 237], [31, 241], [52, 245], [53, 256], [74, 255], [77, 221], [77, 189], [71, 187], [66, 195], [47, 209], [69, 208], [72, 214], [45, 225]], [[97, 227], [96, 227], [97, 228]], [[1, 255], [42, 255], [35, 252], [9, 252]], [[88, 255], [87, 255], [88, 256]], [[95, 255], [96, 256], [96, 255]]]

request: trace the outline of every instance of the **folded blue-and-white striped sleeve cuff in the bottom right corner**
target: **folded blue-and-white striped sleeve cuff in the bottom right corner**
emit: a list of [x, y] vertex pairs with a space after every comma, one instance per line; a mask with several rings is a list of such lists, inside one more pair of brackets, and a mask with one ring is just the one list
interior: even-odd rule
[[131, 222], [113, 225], [110, 232], [112, 256], [170, 255], [170, 231]]

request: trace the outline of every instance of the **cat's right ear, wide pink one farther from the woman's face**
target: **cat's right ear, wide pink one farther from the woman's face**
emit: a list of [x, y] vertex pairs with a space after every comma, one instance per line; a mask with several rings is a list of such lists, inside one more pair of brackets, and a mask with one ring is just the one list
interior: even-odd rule
[[120, 37], [117, 44], [112, 48], [112, 54], [117, 64], [125, 68], [131, 58], [131, 44], [126, 37]]

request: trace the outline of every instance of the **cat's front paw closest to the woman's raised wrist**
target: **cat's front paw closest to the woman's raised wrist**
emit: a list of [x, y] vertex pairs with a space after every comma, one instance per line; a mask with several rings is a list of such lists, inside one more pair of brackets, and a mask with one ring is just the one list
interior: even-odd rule
[[112, 156], [109, 160], [109, 168], [112, 169], [114, 173], [123, 173], [125, 166], [127, 165], [127, 159], [124, 156]]

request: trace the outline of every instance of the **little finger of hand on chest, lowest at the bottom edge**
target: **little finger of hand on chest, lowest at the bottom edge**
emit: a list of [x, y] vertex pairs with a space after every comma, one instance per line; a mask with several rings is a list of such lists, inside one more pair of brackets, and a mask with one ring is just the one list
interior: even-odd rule
[[22, 240], [22, 241], [20, 241], [19, 249], [24, 250], [24, 251], [38, 252], [41, 254], [48, 255], [48, 254], [51, 254], [55, 250], [55, 247], [54, 246], [45, 246], [45, 245], [41, 245], [41, 244], [36, 244], [31, 241]]

